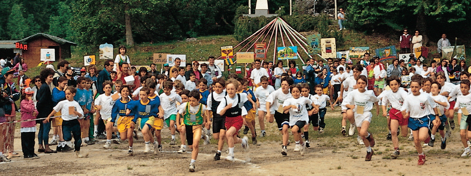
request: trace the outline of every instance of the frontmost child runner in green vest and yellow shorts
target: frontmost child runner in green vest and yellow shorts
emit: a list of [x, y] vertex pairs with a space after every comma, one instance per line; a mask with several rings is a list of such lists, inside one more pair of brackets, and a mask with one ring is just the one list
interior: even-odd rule
[[182, 108], [178, 111], [176, 116], [180, 132], [186, 133], [188, 146], [193, 149], [192, 160], [190, 161], [190, 172], [194, 172], [194, 162], [196, 161], [196, 157], [198, 157], [198, 144], [201, 139], [202, 125], [206, 125], [209, 120], [205, 115], [205, 106], [199, 103], [200, 95], [198, 90], [191, 91], [188, 100], [187, 103], [182, 104]]

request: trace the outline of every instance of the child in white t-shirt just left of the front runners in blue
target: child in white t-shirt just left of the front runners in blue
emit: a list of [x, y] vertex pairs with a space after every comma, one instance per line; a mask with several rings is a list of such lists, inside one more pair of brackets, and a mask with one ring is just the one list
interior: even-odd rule
[[[103, 122], [105, 122], [106, 126], [106, 143], [103, 145], [105, 149], [111, 149], [111, 134], [112, 132], [117, 132], [118, 129], [113, 127], [113, 123], [109, 123], [111, 121], [111, 111], [113, 110], [114, 101], [119, 98], [118, 94], [114, 94], [111, 96], [111, 89], [113, 87], [113, 83], [111, 81], [105, 81], [103, 83], [103, 91], [104, 94], [98, 95], [95, 99], [95, 107], [97, 110], [100, 111], [100, 116]], [[119, 140], [113, 140], [114, 143], [119, 144]]]

